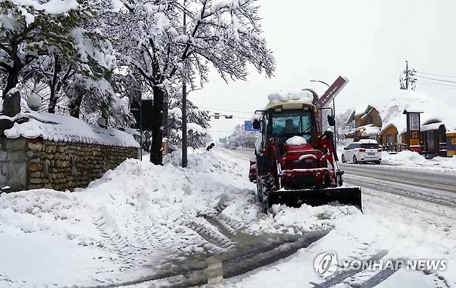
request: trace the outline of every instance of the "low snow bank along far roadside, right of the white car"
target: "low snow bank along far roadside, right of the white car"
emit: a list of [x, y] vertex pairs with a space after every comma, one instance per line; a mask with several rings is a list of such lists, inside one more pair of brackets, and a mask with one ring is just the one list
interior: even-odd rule
[[398, 154], [382, 152], [382, 165], [422, 167], [432, 170], [456, 171], [456, 157], [435, 157], [426, 159], [417, 152], [401, 151]]

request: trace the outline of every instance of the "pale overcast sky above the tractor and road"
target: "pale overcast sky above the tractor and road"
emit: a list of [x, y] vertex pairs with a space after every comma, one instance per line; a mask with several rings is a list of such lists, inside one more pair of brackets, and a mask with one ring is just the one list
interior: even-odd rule
[[[248, 81], [226, 84], [216, 73], [189, 100], [200, 107], [253, 111], [268, 93], [304, 87], [323, 93], [324, 80], [349, 78], [336, 98], [336, 110], [359, 107], [369, 98], [398, 89], [405, 60], [417, 71], [456, 76], [456, 1], [454, 0], [261, 0], [260, 14], [268, 46], [277, 60], [273, 78], [252, 69]], [[420, 86], [442, 100], [455, 90]], [[222, 111], [223, 112], [223, 111]], [[231, 134], [251, 114], [230, 112], [233, 120], [212, 120], [211, 135]]]

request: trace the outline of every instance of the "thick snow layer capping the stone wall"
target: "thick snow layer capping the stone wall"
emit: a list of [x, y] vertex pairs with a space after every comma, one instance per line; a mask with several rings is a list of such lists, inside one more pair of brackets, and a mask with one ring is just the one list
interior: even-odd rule
[[14, 122], [4, 131], [8, 138], [39, 138], [55, 142], [74, 142], [121, 147], [139, 147], [131, 134], [113, 128], [90, 125], [80, 119], [49, 113], [26, 111], [15, 117], [0, 116]]

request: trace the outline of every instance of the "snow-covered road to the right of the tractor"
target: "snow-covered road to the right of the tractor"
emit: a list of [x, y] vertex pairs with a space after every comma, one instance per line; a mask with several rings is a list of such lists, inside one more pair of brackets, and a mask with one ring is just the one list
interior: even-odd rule
[[[243, 150], [230, 153], [239, 158], [246, 154]], [[342, 169], [347, 185], [362, 187], [365, 215], [346, 217], [308, 249], [227, 283], [233, 287], [314, 287], [311, 282], [319, 283], [315, 287], [456, 287], [455, 174], [374, 165], [342, 165]], [[298, 214], [301, 209], [288, 213]], [[362, 259], [382, 251], [384, 259], [444, 259], [448, 269], [362, 271], [313, 281], [313, 259], [321, 251]]]

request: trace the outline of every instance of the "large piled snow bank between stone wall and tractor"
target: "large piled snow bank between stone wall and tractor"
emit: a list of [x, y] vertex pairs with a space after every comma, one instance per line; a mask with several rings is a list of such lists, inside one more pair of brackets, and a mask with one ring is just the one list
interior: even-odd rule
[[222, 198], [247, 203], [248, 161], [211, 151], [189, 154], [186, 169], [178, 153], [165, 163], [130, 159], [73, 193], [1, 194], [0, 287], [107, 285], [150, 275], [168, 256], [218, 251], [189, 227]]

